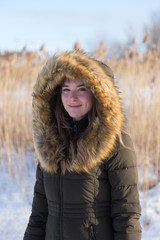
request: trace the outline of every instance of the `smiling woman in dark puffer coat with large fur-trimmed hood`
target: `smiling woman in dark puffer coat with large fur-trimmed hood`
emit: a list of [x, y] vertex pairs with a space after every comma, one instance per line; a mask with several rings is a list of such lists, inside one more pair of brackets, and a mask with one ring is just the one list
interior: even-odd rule
[[51, 58], [33, 92], [38, 156], [24, 240], [139, 240], [133, 146], [112, 70], [80, 52]]

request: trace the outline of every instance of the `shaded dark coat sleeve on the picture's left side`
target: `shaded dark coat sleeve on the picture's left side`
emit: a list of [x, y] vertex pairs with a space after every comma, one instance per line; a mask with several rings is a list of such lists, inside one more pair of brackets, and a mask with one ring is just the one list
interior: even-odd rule
[[45, 240], [45, 229], [48, 216], [47, 199], [43, 185], [43, 172], [37, 166], [36, 183], [32, 203], [32, 213], [23, 240]]

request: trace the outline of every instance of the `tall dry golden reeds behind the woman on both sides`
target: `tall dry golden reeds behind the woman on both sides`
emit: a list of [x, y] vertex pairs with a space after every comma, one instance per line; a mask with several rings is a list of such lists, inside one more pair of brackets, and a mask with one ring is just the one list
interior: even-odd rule
[[[147, 38], [149, 35], [144, 43]], [[74, 48], [83, 51], [79, 43]], [[148, 189], [160, 180], [160, 52], [154, 45], [143, 54], [138, 52], [134, 38], [127, 49], [120, 45], [116, 52], [100, 43], [90, 55], [104, 61], [115, 73], [142, 171], [140, 187]], [[27, 170], [26, 153], [34, 151], [31, 94], [47, 58], [44, 46], [39, 51], [27, 52], [24, 48], [0, 55], [0, 165], [4, 169], [7, 166], [15, 176]]]

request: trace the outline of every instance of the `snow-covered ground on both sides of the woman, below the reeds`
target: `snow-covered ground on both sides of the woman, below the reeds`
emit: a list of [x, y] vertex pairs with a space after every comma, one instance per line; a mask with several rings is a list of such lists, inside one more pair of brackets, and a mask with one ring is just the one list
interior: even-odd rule
[[[22, 240], [31, 212], [35, 166], [27, 176], [0, 174], [0, 240]], [[140, 192], [142, 240], [160, 240], [160, 183]], [[144, 222], [146, 224], [144, 224]], [[136, 240], [136, 239], [135, 239]]]

